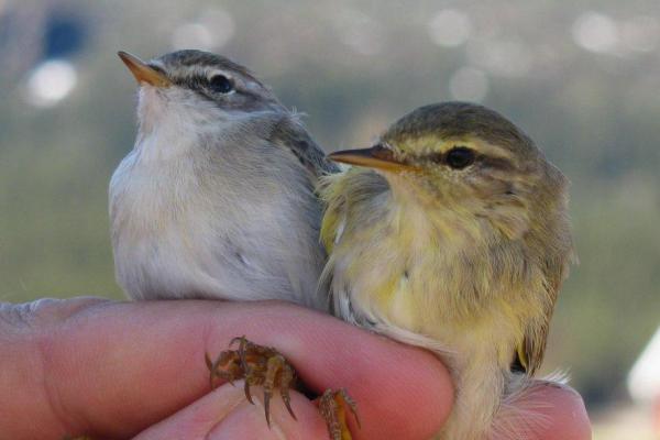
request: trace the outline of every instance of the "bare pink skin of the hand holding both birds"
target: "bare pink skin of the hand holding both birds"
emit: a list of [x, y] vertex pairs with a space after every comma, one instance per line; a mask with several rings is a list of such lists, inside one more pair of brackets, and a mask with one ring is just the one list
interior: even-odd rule
[[[258, 318], [258, 319], [255, 319]], [[320, 392], [345, 386], [360, 405], [356, 439], [428, 439], [452, 387], [430, 353], [283, 302], [112, 302], [97, 298], [0, 304], [0, 431], [11, 439], [326, 439], [314, 403], [279, 398], [268, 430], [242, 384], [209, 393], [202, 356], [237, 334], [275, 345]], [[323, 346], [324, 350], [318, 350]], [[346, 365], [351, 365], [346, 369]], [[580, 396], [540, 386], [548, 425], [539, 440], [591, 439]]]

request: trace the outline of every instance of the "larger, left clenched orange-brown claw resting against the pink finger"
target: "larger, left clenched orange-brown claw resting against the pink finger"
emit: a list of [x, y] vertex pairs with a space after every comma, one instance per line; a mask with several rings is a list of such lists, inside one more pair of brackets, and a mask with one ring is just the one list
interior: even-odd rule
[[206, 353], [205, 360], [210, 372], [211, 387], [216, 387], [217, 380], [224, 380], [233, 384], [233, 381], [242, 378], [245, 381], [245, 397], [251, 404], [254, 404], [250, 387], [263, 386], [264, 410], [268, 427], [271, 426], [271, 398], [274, 389], [278, 388], [286, 409], [296, 419], [289, 396], [289, 389], [296, 382], [294, 367], [277, 350], [271, 346], [257, 345], [245, 337], [232, 339], [230, 348], [235, 343], [239, 344], [238, 350], [223, 351], [216, 361], [211, 361]]

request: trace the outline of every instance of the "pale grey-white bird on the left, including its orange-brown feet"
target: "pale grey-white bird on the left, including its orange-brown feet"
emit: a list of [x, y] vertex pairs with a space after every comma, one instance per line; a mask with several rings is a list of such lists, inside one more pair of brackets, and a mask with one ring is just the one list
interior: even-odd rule
[[[315, 188], [338, 170], [271, 88], [227, 57], [184, 50], [143, 62], [120, 58], [138, 80], [139, 130], [109, 188], [118, 284], [144, 299], [279, 299], [328, 311], [317, 289], [326, 263]], [[265, 418], [295, 369], [276, 349], [244, 336], [237, 350], [208, 354], [217, 380], [263, 385]], [[341, 408], [339, 408], [341, 406]], [[319, 409], [333, 438], [355, 403], [328, 389]], [[334, 432], [334, 433], [332, 433]]]

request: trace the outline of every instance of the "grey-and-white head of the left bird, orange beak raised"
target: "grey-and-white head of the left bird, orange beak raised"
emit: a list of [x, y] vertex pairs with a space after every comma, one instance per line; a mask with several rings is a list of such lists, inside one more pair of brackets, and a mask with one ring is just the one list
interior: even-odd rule
[[204, 130], [284, 109], [250, 70], [220, 55], [188, 50], [150, 62], [127, 52], [119, 57], [140, 84], [142, 132], [173, 121], [187, 122], [190, 131]]

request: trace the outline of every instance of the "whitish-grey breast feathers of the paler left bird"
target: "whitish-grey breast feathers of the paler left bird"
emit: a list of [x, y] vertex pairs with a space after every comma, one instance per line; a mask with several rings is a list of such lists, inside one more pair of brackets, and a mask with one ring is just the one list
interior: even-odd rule
[[323, 253], [318, 219], [308, 218], [318, 209], [311, 191], [227, 182], [234, 177], [200, 172], [185, 157], [154, 164], [131, 153], [122, 162], [110, 185], [110, 217], [118, 280], [132, 297], [185, 293], [322, 307], [314, 296]]

